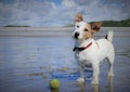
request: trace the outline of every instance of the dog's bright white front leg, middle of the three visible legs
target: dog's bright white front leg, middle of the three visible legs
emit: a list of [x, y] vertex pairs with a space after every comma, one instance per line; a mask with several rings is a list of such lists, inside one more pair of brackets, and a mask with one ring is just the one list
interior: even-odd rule
[[92, 64], [92, 68], [93, 68], [93, 80], [92, 80], [92, 84], [99, 84], [99, 76], [100, 76], [100, 66], [99, 63], [93, 63]]

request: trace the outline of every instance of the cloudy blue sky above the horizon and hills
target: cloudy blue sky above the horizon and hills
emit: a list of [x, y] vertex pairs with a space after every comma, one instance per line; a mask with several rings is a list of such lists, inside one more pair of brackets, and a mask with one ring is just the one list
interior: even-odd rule
[[64, 26], [77, 13], [84, 22], [130, 18], [130, 0], [0, 0], [0, 26]]

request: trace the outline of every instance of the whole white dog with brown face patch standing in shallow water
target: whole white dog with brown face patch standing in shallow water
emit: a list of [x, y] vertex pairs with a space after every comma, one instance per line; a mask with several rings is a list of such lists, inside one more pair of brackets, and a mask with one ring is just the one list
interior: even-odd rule
[[107, 37], [104, 39], [94, 40], [92, 38], [93, 34], [100, 30], [101, 25], [101, 22], [93, 24], [84, 23], [80, 13], [75, 18], [73, 37], [76, 41], [74, 51], [76, 52], [76, 57], [80, 66], [80, 78], [77, 79], [78, 82], [84, 82], [84, 67], [91, 66], [93, 69], [93, 80], [91, 83], [99, 84], [100, 63], [105, 58], [108, 60], [109, 64], [108, 77], [114, 76], [113, 64], [115, 50], [112, 43], [113, 31], [108, 31]]

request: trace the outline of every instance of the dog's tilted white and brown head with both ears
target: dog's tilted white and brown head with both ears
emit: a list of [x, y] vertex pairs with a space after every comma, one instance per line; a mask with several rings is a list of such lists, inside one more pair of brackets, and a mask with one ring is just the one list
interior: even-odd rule
[[88, 24], [83, 22], [82, 15], [78, 13], [74, 19], [75, 30], [73, 37], [77, 40], [87, 40], [93, 37], [93, 34], [98, 32], [101, 28], [102, 23], [95, 22]]

